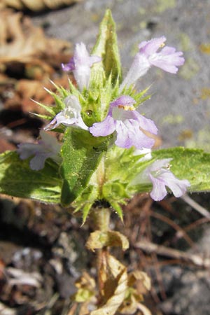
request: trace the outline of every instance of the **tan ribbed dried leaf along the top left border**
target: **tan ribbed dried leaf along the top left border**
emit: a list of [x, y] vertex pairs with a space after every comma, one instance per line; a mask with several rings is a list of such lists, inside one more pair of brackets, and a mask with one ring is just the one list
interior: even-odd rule
[[0, 8], [15, 8], [16, 10], [40, 11], [69, 6], [80, 0], [1, 0]]

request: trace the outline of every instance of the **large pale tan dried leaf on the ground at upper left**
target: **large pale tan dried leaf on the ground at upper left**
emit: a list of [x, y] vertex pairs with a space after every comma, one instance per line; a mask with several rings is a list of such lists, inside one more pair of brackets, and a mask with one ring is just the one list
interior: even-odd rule
[[0, 11], [0, 44], [1, 63], [22, 62], [41, 67], [45, 64], [46, 71], [50, 70], [50, 64], [46, 63], [48, 57], [53, 65], [57, 62], [59, 66], [59, 55], [66, 55], [66, 59], [71, 55], [70, 43], [46, 38], [41, 27], [34, 27], [29, 18], [11, 10]]

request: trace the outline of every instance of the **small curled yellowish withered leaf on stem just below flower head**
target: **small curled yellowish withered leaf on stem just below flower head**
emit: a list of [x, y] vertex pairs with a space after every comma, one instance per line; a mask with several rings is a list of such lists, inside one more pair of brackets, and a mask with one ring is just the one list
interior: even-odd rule
[[86, 247], [90, 251], [103, 248], [104, 246], [121, 246], [125, 251], [129, 248], [129, 242], [120, 232], [116, 231], [95, 231], [87, 239]]

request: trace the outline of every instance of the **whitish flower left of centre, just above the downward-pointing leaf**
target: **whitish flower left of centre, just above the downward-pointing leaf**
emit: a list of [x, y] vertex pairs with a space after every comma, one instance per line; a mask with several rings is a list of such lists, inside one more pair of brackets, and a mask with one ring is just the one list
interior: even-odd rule
[[60, 124], [65, 126], [78, 126], [84, 130], [88, 130], [88, 127], [85, 125], [83, 118], [81, 117], [81, 106], [78, 102], [78, 98], [75, 95], [69, 95], [64, 99], [64, 103], [64, 110], [57, 113], [55, 118], [44, 127], [44, 130], [55, 129]]

